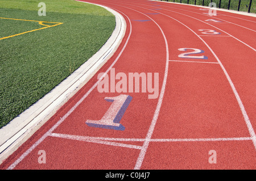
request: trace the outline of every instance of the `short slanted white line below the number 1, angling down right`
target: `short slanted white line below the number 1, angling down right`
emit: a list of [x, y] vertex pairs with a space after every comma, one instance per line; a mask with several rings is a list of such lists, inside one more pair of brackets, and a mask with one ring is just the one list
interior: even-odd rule
[[110, 145], [110, 146], [120, 146], [120, 147], [125, 147], [125, 148], [142, 149], [142, 146], [138, 146], [138, 145], [130, 145], [130, 144], [122, 144], [119, 142], [98, 140], [98, 139], [90, 138], [90, 137], [86, 137], [86, 136], [77, 136], [77, 135], [60, 134], [60, 133], [51, 133], [51, 134], [49, 134], [49, 136], [57, 137], [57, 138], [65, 138], [65, 139], [69, 139], [69, 140], [93, 142], [93, 143], [97, 143], [97, 144], [104, 144], [104, 145]]

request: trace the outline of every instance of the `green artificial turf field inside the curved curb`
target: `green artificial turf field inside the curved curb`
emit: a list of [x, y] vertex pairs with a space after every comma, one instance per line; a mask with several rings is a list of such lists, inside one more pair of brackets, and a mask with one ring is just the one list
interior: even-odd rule
[[[0, 17], [60, 22], [55, 27], [0, 40], [0, 128], [46, 95], [93, 56], [115, 27], [102, 7], [71, 0], [0, 0]], [[38, 22], [0, 19], [0, 37], [35, 30]]]

